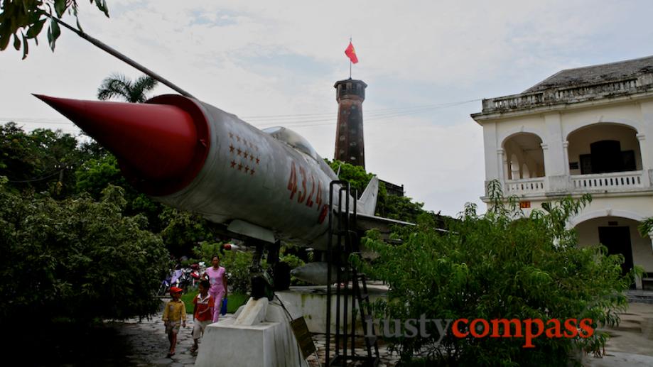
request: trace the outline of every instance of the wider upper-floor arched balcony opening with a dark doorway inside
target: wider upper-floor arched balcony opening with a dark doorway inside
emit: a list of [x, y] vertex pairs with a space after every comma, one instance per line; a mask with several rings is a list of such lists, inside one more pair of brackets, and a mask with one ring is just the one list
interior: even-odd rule
[[600, 123], [567, 136], [571, 189], [584, 192], [644, 187], [635, 128]]

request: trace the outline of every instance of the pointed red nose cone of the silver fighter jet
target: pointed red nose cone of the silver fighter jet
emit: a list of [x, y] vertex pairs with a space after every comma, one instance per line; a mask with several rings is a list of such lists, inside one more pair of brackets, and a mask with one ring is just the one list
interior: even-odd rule
[[193, 180], [208, 152], [205, 116], [190, 99], [153, 103], [82, 101], [36, 95], [111, 151], [132, 185], [168, 195]]

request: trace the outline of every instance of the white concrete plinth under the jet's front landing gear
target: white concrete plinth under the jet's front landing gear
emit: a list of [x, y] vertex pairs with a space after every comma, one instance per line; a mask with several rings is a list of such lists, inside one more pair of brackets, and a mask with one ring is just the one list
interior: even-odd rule
[[[195, 366], [308, 367], [290, 327], [290, 319], [298, 316], [292, 307], [286, 306], [291, 314], [288, 316], [278, 302], [269, 302], [267, 307], [254, 302], [248, 305], [265, 312], [264, 321], [248, 325], [240, 317], [238, 324], [236, 319], [210, 324], [205, 329]], [[239, 314], [249, 314], [248, 319], [253, 319], [252, 313], [252, 310], [239, 310]]]

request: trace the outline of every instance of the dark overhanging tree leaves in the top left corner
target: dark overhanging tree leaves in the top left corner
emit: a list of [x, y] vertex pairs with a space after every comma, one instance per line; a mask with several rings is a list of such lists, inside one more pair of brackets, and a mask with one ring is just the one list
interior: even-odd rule
[[[97, 9], [109, 18], [106, 0], [90, 0]], [[28, 40], [33, 39], [38, 45], [37, 36], [43, 31], [43, 26], [49, 21], [48, 43], [55, 50], [55, 43], [61, 34], [55, 18], [61, 18], [66, 12], [72, 13], [77, 18], [77, 28], [81, 31], [77, 17], [77, 0], [1, 0], [0, 3], [0, 50], [9, 46], [11, 37], [14, 37], [14, 48], [23, 49], [23, 60], [28, 54]], [[53, 12], [54, 11], [54, 12]]]

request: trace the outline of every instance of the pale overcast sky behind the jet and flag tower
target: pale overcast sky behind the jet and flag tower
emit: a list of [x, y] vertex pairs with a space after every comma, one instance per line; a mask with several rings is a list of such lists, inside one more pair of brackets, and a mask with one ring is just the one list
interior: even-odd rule
[[[448, 215], [465, 202], [485, 212], [482, 128], [469, 117], [479, 99], [653, 55], [651, 1], [107, 0], [108, 19], [79, 2], [90, 35], [254, 126], [292, 128], [330, 159], [351, 36], [352, 77], [368, 84], [367, 170]], [[55, 53], [39, 39], [27, 60], [0, 53], [2, 122], [78, 133], [31, 93], [95, 99], [104, 77], [139, 76], [65, 29]]]

